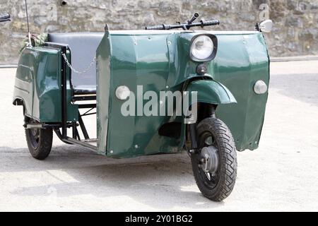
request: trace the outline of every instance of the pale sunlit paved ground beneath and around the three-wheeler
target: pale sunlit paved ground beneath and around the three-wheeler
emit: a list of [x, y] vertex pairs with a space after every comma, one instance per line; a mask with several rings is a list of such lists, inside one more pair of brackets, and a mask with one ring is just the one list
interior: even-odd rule
[[221, 203], [201, 196], [187, 154], [112, 160], [55, 138], [34, 160], [11, 105], [14, 74], [0, 71], [0, 210], [318, 210], [318, 61], [271, 65], [260, 148], [238, 153]]

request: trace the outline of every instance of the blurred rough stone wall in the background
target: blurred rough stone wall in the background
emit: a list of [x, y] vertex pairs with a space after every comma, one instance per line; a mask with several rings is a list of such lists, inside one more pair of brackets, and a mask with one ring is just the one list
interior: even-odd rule
[[[64, 4], [64, 5], [63, 5]], [[253, 30], [262, 18], [274, 22], [266, 34], [271, 57], [318, 54], [318, 0], [28, 0], [30, 30], [40, 32], [143, 29], [145, 25], [185, 21], [192, 13], [218, 18], [213, 30]], [[12, 21], [1, 23], [0, 64], [16, 64], [27, 32], [22, 0], [0, 0], [0, 12]], [[210, 28], [211, 29], [211, 28]]]

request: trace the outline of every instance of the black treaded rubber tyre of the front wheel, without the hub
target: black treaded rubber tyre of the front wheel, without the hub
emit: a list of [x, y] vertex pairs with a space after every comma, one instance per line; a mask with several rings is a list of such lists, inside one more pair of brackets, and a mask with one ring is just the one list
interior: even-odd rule
[[232, 192], [237, 175], [237, 155], [232, 133], [223, 121], [215, 117], [202, 120], [196, 128], [199, 145], [202, 143], [203, 134], [211, 133], [213, 136], [218, 148], [219, 166], [216, 185], [208, 186], [202, 176], [204, 172], [198, 167], [198, 157], [201, 153], [199, 150], [199, 153], [192, 154], [191, 157], [194, 179], [206, 198], [212, 201], [223, 201]]

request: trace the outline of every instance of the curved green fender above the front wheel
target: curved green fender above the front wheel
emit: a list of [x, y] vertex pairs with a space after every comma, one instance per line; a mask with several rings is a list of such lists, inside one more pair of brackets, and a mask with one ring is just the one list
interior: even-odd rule
[[[221, 83], [213, 80], [198, 80], [187, 87], [189, 93], [197, 92], [196, 102], [206, 102], [213, 105], [236, 103], [230, 90]], [[195, 100], [191, 98], [191, 105]]]

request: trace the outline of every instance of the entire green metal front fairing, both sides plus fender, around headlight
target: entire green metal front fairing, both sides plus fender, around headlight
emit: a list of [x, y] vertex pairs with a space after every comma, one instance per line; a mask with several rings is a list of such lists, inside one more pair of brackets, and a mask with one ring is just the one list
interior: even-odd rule
[[[121, 113], [124, 101], [117, 99], [115, 90], [119, 85], [126, 85], [135, 94], [137, 85], [143, 85], [143, 93], [148, 90], [156, 94], [163, 90], [182, 90], [185, 81], [201, 77], [196, 74], [196, 66], [201, 63], [189, 59], [190, 41], [201, 33], [105, 34], [97, 51], [98, 95], [102, 95], [98, 97], [97, 105], [100, 116], [98, 139], [105, 139], [99, 141], [99, 153], [110, 157], [134, 157], [182, 150], [185, 126], [182, 126], [178, 139], [158, 134], [163, 124], [182, 119], [124, 117]], [[269, 57], [264, 37], [260, 32], [213, 33], [218, 37], [218, 52], [216, 58], [207, 64], [206, 76], [210, 80], [190, 83], [188, 89], [201, 90], [201, 102], [221, 104], [217, 115], [229, 126], [237, 149], [252, 150], [259, 143], [267, 100], [267, 93], [255, 94], [253, 85], [259, 79], [269, 83]]]

